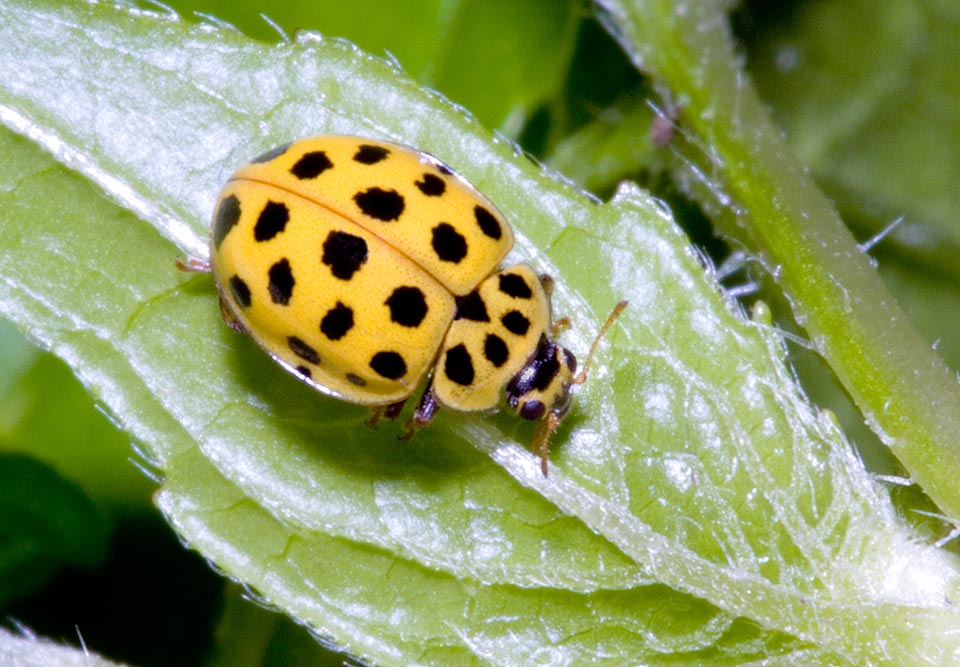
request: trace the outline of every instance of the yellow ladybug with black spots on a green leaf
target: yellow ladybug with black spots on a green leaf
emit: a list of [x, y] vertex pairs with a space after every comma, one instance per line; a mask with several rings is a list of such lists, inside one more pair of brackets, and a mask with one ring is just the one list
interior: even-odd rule
[[550, 434], [585, 371], [552, 340], [549, 278], [497, 270], [512, 246], [497, 209], [436, 158], [322, 136], [230, 177], [210, 267], [226, 322], [317, 391], [373, 407], [375, 424], [429, 378], [405, 437], [441, 406], [491, 411], [505, 397], [539, 423], [546, 475]]

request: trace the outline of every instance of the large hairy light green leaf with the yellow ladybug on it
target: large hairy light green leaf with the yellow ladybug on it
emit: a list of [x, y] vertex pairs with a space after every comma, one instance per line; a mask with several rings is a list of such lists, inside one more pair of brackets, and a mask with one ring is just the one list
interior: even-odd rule
[[[339, 41], [96, 3], [0, 17], [0, 119], [26, 137], [0, 136], [0, 309], [143, 444], [184, 539], [264, 602], [383, 665], [956, 653], [956, 564], [636, 187], [599, 204]], [[630, 300], [550, 477], [507, 416], [444, 414], [406, 445], [363, 427], [227, 329], [208, 276], [174, 269], [204, 254], [233, 168], [323, 132], [415, 145], [490, 196], [516, 257], [557, 276], [575, 352]]]

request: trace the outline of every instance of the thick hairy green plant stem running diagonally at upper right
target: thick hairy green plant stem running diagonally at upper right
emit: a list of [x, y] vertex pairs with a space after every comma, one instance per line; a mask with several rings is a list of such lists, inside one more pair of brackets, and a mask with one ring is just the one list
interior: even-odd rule
[[691, 194], [708, 210], [734, 212], [737, 225], [723, 231], [765, 263], [816, 349], [913, 479], [960, 517], [957, 379], [771, 121], [734, 53], [726, 3], [598, 4], [638, 67], [680, 109], [689, 141], [681, 154], [699, 177]]

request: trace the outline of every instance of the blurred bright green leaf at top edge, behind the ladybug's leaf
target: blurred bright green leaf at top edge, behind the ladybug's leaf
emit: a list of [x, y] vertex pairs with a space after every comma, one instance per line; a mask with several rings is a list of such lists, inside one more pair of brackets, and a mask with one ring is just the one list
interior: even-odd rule
[[581, 14], [576, 3], [553, 0], [178, 0], [171, 6], [188, 16], [205, 12], [261, 39], [277, 38], [267, 20], [289, 34], [320, 27], [374, 55], [395, 57], [420, 84], [443, 90], [487, 127], [514, 131], [563, 86]]

